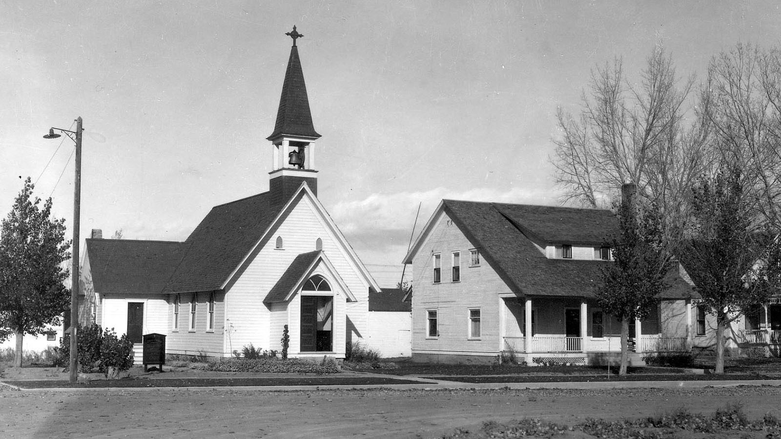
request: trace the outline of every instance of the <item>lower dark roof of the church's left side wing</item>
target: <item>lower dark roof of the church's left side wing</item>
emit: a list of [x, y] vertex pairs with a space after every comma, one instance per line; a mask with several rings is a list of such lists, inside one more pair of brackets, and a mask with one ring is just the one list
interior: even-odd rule
[[87, 239], [98, 294], [160, 294], [184, 254], [184, 242]]

